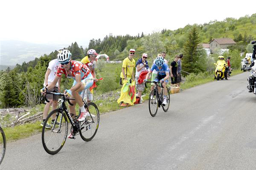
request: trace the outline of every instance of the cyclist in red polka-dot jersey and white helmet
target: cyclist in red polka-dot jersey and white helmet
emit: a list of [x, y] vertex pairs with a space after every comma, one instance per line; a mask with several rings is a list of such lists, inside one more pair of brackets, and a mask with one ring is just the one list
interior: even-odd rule
[[[73, 106], [69, 105], [70, 113], [72, 113], [74, 116], [76, 115], [75, 107], [76, 103], [78, 103], [81, 110], [81, 115], [79, 116], [78, 121], [84, 121], [85, 117], [90, 116], [90, 114], [87, 112], [87, 110], [85, 110], [84, 103], [80, 95], [83, 90], [88, 89], [93, 85], [93, 76], [85, 64], [81, 63], [80, 61], [72, 61], [70, 58], [71, 52], [67, 49], [58, 53], [57, 59], [61, 65], [58, 67], [54, 80], [47, 86], [47, 88], [52, 89], [61, 78], [62, 74], [64, 74], [67, 78], [73, 78], [73, 86], [71, 89], [66, 89], [64, 93], [66, 96], [76, 99], [75, 101], [70, 101], [73, 104]], [[41, 93], [44, 95], [45, 92], [46, 90], [44, 87], [41, 89]], [[95, 117], [95, 115], [92, 116]], [[74, 138], [73, 134], [70, 133], [68, 138]]]

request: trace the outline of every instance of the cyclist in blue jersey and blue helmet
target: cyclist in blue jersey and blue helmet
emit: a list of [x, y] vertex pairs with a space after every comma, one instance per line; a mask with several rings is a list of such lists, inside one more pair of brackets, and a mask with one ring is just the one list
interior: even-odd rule
[[160, 81], [163, 85], [163, 104], [167, 104], [166, 101], [166, 95], [167, 95], [167, 89], [166, 89], [166, 84], [168, 82], [168, 79], [170, 77], [169, 72], [170, 69], [168, 67], [168, 65], [164, 62], [164, 58], [163, 57], [157, 57], [154, 64], [152, 65], [150, 72], [148, 72], [148, 74], [146, 75], [146, 78], [144, 81], [147, 81], [149, 76], [151, 75], [151, 73], [153, 72], [153, 70], [157, 71], [157, 76], [154, 79], [154, 81]]

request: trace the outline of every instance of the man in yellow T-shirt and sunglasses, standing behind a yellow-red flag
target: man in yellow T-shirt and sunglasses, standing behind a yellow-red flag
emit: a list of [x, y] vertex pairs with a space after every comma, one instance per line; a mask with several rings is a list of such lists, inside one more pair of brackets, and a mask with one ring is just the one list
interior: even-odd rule
[[[123, 84], [124, 80], [129, 80], [131, 83], [131, 78], [134, 80], [134, 67], [135, 67], [135, 49], [130, 49], [130, 54], [127, 58], [123, 60], [122, 63], [122, 72], [120, 74], [120, 84]], [[121, 106], [127, 106], [127, 104], [124, 104], [121, 102]]]

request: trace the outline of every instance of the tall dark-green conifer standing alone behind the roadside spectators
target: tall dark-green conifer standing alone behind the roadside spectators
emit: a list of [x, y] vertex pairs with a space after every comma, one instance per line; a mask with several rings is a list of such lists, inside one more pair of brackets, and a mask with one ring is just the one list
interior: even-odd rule
[[189, 32], [186, 43], [184, 44], [184, 59], [183, 68], [186, 72], [198, 72], [198, 32], [196, 27], [193, 27], [191, 32]]

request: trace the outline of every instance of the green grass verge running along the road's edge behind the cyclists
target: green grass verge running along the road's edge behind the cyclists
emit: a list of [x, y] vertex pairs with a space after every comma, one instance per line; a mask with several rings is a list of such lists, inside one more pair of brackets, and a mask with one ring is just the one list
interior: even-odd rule
[[[232, 75], [238, 75], [242, 73], [240, 70], [234, 70], [232, 72]], [[194, 86], [198, 86], [201, 84], [206, 84], [208, 82], [214, 81], [214, 75], [209, 75], [207, 78], [200, 78], [196, 81], [192, 82], [185, 82], [184, 84], [181, 84], [182, 89], [189, 89]], [[232, 77], [231, 77], [232, 78]], [[119, 104], [116, 102], [116, 95], [119, 95], [119, 90], [113, 91], [107, 96], [107, 98], [103, 99], [95, 99], [95, 103], [99, 107], [100, 113], [105, 112], [111, 112], [118, 109], [122, 109], [124, 107], [120, 107]], [[148, 95], [145, 95], [143, 97], [144, 100], [148, 99]], [[38, 106], [39, 109], [43, 110], [44, 104], [41, 104]], [[78, 106], [76, 107], [78, 111]], [[38, 109], [35, 109], [38, 110]], [[41, 121], [36, 121], [35, 123], [26, 123], [24, 125], [16, 126], [16, 127], [6, 127], [3, 128], [5, 134], [6, 134], [6, 140], [8, 142], [15, 141], [22, 138], [27, 138], [31, 135], [38, 134], [42, 131], [42, 127], [40, 126]]]

